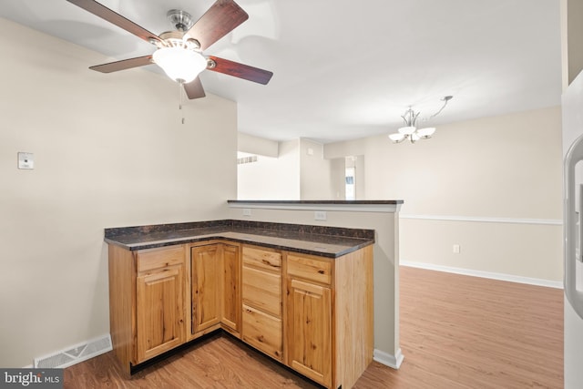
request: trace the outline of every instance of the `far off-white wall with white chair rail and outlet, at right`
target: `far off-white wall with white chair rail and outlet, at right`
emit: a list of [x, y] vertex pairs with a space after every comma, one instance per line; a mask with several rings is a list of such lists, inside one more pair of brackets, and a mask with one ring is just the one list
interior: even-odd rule
[[549, 107], [440, 126], [415, 144], [328, 144], [324, 156], [363, 154], [366, 198], [404, 200], [401, 261], [558, 282], [560, 142]]

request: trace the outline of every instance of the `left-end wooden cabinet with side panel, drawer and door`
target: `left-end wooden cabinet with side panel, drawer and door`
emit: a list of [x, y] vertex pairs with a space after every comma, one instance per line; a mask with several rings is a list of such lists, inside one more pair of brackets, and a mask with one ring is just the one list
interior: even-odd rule
[[109, 246], [110, 330], [124, 369], [186, 340], [185, 251]]

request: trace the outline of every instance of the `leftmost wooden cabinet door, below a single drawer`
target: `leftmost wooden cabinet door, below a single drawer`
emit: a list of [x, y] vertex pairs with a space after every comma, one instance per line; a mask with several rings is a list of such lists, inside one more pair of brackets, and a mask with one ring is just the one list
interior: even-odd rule
[[138, 275], [138, 363], [184, 343], [184, 268], [171, 266]]

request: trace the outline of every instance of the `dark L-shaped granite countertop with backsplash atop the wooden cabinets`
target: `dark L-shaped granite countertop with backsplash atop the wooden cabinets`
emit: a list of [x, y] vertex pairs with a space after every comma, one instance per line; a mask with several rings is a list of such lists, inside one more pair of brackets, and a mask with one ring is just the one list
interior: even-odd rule
[[197, 241], [236, 241], [337, 258], [373, 244], [374, 230], [248, 220], [212, 220], [105, 230], [105, 241], [130, 251]]

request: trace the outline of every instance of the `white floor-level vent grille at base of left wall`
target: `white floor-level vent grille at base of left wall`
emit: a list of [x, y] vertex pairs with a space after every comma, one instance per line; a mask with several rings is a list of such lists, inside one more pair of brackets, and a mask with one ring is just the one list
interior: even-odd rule
[[111, 350], [111, 337], [107, 334], [86, 343], [67, 347], [66, 350], [35, 358], [35, 367], [64, 368]]

